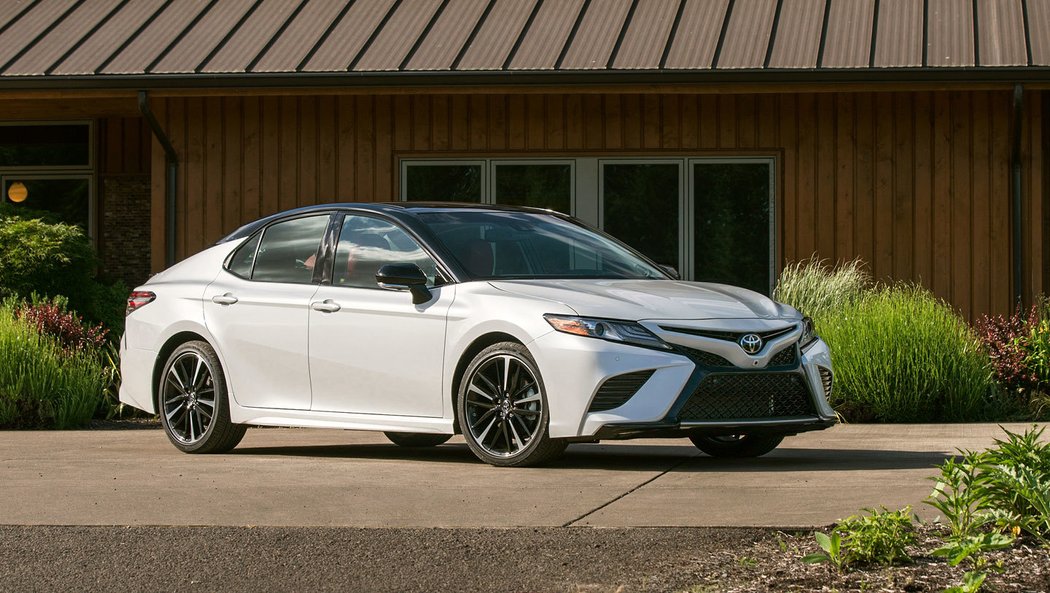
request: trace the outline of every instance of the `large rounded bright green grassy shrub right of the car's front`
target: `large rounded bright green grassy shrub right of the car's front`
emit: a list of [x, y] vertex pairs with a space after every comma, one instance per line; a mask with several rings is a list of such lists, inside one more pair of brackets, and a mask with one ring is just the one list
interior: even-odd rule
[[835, 364], [833, 404], [847, 416], [937, 422], [987, 412], [987, 356], [963, 319], [921, 288], [875, 288], [817, 319], [816, 329]]

